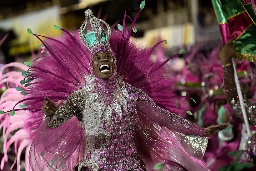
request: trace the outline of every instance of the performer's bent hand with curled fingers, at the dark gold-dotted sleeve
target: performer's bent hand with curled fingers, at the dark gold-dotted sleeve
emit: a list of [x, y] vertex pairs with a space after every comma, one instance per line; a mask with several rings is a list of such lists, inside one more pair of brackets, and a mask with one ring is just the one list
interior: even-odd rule
[[51, 116], [53, 113], [55, 113], [59, 109], [59, 106], [61, 103], [62, 103], [62, 100], [59, 100], [58, 103], [55, 104], [48, 97], [44, 97], [42, 110], [46, 115]]

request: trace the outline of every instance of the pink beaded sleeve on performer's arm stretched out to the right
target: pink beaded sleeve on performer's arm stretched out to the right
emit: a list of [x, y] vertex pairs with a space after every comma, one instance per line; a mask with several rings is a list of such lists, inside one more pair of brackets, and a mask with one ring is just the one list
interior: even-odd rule
[[189, 122], [185, 118], [160, 108], [143, 91], [138, 93], [136, 101], [138, 111], [144, 113], [149, 119], [157, 122], [162, 127], [167, 127], [173, 131], [187, 135], [204, 136], [204, 128]]

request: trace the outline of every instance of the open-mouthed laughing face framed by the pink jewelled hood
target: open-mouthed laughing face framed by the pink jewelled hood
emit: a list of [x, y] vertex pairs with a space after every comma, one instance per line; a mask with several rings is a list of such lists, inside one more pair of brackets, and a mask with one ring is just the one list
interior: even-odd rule
[[93, 71], [96, 76], [102, 80], [108, 80], [114, 73], [115, 65], [112, 55], [105, 51], [105, 53], [98, 52], [93, 57]]

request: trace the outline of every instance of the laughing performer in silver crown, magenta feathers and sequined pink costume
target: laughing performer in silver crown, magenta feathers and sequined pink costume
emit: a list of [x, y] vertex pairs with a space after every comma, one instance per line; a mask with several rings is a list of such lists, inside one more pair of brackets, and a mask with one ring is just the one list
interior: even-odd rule
[[[202, 161], [207, 138], [181, 133], [210, 136], [228, 124], [202, 128], [168, 111], [181, 109], [171, 105], [175, 96], [160, 69], [167, 61], [150, 60], [157, 44], [140, 49], [129, 42], [138, 15], [129, 31], [124, 17], [122, 31], [112, 32], [91, 10], [85, 14], [78, 32], [61, 29], [60, 39], [42, 41], [49, 57], [36, 61], [22, 81], [33, 80], [22, 100], [31, 111], [25, 123], [33, 130], [31, 168], [152, 170], [161, 162], [165, 170], [208, 170]], [[58, 109], [59, 99], [65, 101]]]

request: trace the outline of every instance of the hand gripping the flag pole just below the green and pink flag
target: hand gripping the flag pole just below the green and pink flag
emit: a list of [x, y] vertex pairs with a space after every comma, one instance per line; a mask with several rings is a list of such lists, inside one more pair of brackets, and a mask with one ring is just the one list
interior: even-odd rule
[[218, 55], [223, 65], [227, 65], [231, 63], [231, 59], [235, 56], [235, 49], [232, 40], [228, 40], [228, 42], [219, 48]]

